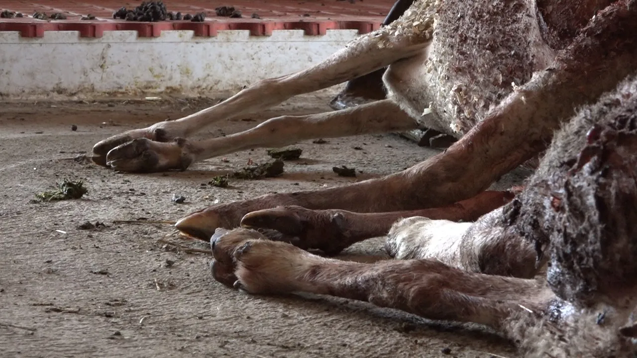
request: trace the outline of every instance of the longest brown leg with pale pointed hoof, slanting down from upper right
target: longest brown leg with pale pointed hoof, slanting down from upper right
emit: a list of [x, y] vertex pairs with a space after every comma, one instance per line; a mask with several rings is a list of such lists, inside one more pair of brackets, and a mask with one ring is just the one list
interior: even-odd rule
[[637, 69], [630, 35], [637, 31], [636, 3], [618, 1], [599, 11], [551, 68], [516, 89], [442, 154], [385, 178], [212, 206], [176, 226], [199, 230], [207, 240], [216, 227], [239, 226], [250, 211], [282, 205], [383, 212], [435, 208], [475, 196], [543, 150], [573, 108], [614, 89]]

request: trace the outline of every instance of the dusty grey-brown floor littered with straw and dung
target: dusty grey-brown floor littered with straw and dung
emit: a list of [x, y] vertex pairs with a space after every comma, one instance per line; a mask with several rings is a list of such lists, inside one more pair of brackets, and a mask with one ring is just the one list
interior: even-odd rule
[[[224, 120], [198, 137], [248, 129], [282, 114], [327, 111], [329, 97], [298, 97], [271, 111]], [[171, 250], [168, 224], [215, 203], [268, 192], [318, 189], [382, 176], [436, 151], [392, 134], [299, 143], [299, 161], [276, 179], [216, 175], [263, 162], [265, 149], [194, 164], [185, 172], [115, 173], [86, 160], [92, 145], [134, 127], [179, 118], [213, 101], [0, 103], [0, 355], [3, 357], [515, 357], [507, 341], [479, 327], [431, 322], [367, 303], [318, 296], [260, 297], [215, 282], [210, 257]], [[71, 131], [77, 125], [77, 131]], [[355, 148], [357, 147], [357, 148]], [[333, 166], [352, 166], [340, 178]], [[89, 192], [72, 201], [32, 203], [63, 178]], [[507, 187], [520, 176], [503, 178]], [[183, 204], [171, 201], [183, 195]], [[106, 227], [78, 229], [84, 222]], [[387, 259], [382, 239], [346, 259]]]

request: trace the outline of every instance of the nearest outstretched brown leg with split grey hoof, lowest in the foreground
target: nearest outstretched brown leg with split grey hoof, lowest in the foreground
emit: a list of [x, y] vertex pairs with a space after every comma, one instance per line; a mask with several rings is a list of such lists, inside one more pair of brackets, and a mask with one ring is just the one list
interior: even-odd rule
[[542, 310], [552, 297], [535, 280], [469, 273], [426, 260], [327, 259], [245, 229], [230, 231], [211, 246], [215, 280], [252, 294], [326, 294], [496, 329], [524, 310], [520, 305]]

